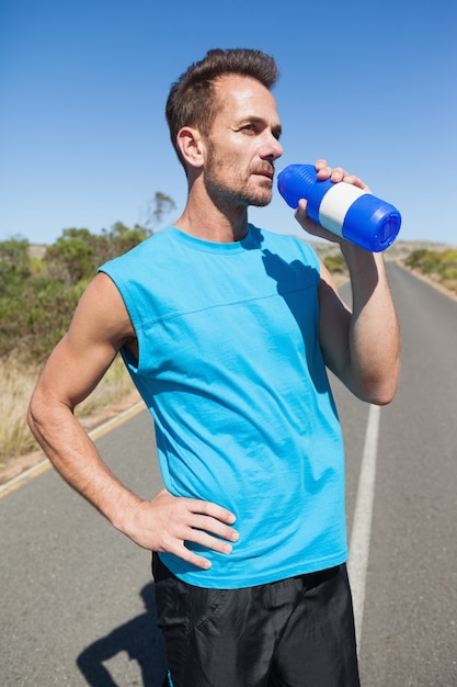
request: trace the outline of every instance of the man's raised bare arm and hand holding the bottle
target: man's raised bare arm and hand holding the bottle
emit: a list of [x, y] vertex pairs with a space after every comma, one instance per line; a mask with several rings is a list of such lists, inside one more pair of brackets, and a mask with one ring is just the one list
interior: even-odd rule
[[[356, 177], [338, 168], [331, 170], [322, 160], [319, 176], [347, 181], [367, 189]], [[297, 219], [309, 233], [331, 240], [333, 234], [311, 222], [306, 202], [300, 201]], [[400, 372], [400, 335], [381, 254], [370, 254], [340, 239], [352, 285], [352, 312], [340, 299], [333, 280], [321, 266], [320, 341], [329, 369], [361, 399], [384, 405], [390, 403]]]

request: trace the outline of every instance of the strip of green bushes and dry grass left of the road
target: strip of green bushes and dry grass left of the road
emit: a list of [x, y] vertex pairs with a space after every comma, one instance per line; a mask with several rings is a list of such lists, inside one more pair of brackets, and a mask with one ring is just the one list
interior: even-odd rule
[[[174, 202], [156, 193], [145, 226], [117, 222], [92, 234], [65, 229], [46, 248], [13, 237], [0, 241], [0, 466], [36, 448], [25, 410], [44, 360], [67, 331], [84, 289], [96, 269], [152, 234]], [[134, 390], [119, 356], [96, 390], [81, 403], [79, 416], [125, 398]]]

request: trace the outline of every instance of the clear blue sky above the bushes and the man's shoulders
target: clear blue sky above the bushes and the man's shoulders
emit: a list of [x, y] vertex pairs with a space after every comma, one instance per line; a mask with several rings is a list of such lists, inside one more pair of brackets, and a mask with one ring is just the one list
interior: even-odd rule
[[[402, 213], [399, 238], [457, 244], [454, 0], [0, 0], [0, 240], [141, 223], [184, 174], [163, 109], [212, 47], [281, 69], [277, 169], [327, 158]], [[278, 193], [251, 219], [300, 228]]]

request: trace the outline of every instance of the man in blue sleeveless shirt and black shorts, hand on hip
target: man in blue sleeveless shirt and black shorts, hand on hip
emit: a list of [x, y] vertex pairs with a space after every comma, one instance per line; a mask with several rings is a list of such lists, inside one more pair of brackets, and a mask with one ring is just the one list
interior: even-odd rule
[[[156, 552], [174, 687], [358, 685], [325, 367], [358, 398], [389, 403], [399, 333], [380, 255], [335, 239], [300, 201], [301, 226], [340, 241], [351, 312], [307, 244], [248, 223], [249, 205], [271, 201], [283, 151], [276, 76], [263, 53], [210, 50], [173, 85], [184, 212], [101, 268], [31, 402], [56, 469]], [[72, 415], [117, 351], [156, 423], [165, 488], [151, 502], [110, 473]]]

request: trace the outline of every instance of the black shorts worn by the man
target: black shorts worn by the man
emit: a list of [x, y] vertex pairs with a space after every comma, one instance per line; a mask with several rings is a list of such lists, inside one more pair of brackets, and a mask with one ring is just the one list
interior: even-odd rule
[[359, 686], [345, 565], [242, 589], [152, 571], [172, 687]]

